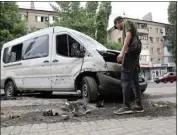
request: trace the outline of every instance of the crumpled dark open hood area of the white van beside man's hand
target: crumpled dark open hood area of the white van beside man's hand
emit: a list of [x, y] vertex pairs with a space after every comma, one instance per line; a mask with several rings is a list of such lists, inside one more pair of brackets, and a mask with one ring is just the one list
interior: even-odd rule
[[106, 62], [117, 63], [117, 56], [120, 54], [119, 51], [117, 50], [106, 50], [106, 51], [97, 50], [97, 51], [101, 56], [103, 56], [103, 59]]

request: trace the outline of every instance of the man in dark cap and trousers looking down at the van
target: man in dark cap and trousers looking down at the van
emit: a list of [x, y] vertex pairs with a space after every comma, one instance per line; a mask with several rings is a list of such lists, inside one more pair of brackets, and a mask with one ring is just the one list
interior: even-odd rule
[[[139, 87], [139, 56], [141, 52], [141, 42], [137, 35], [135, 24], [129, 20], [124, 20], [121, 16], [114, 20], [116, 29], [123, 31], [123, 47], [117, 57], [117, 61], [122, 61], [121, 84], [123, 90], [123, 106], [114, 111], [115, 114], [126, 114], [134, 112], [144, 112], [141, 102], [141, 91]], [[132, 82], [133, 81], [133, 82]], [[134, 94], [136, 106], [132, 109], [130, 97], [132, 85], [134, 83]]]

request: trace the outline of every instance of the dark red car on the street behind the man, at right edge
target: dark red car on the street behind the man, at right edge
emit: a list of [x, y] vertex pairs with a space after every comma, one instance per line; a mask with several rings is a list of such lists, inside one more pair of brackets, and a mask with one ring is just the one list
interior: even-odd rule
[[154, 80], [154, 82], [156, 82], [156, 83], [160, 83], [160, 82], [173, 83], [175, 81], [177, 81], [177, 73], [176, 72], [168, 72], [167, 74], [165, 74], [159, 78], [155, 78], [155, 80]]

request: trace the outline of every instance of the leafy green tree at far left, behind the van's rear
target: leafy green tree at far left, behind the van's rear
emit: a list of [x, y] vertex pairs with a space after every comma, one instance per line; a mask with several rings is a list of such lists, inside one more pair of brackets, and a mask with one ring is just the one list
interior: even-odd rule
[[25, 35], [27, 27], [21, 20], [16, 2], [0, 2], [0, 49], [5, 42]]

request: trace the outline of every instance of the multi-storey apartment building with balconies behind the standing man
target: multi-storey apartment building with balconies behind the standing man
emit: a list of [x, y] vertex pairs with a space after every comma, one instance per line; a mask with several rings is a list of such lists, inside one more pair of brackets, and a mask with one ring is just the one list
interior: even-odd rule
[[[149, 14], [150, 16], [150, 14]], [[147, 80], [153, 80], [166, 72], [172, 70], [175, 64], [169, 52], [169, 42], [167, 40], [166, 27], [168, 24], [154, 22], [146, 17], [145, 20], [125, 18], [135, 23], [139, 38], [142, 42], [142, 52], [140, 55], [140, 66], [142, 73]], [[122, 31], [115, 30], [114, 27], [108, 31], [108, 42], [120, 42]]]

